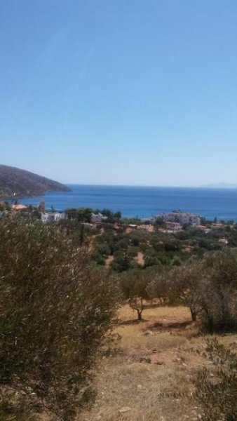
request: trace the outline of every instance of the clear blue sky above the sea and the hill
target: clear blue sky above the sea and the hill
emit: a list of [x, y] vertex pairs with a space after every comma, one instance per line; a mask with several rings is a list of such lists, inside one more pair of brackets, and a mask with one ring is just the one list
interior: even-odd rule
[[1, 0], [0, 60], [0, 163], [237, 182], [236, 0]]

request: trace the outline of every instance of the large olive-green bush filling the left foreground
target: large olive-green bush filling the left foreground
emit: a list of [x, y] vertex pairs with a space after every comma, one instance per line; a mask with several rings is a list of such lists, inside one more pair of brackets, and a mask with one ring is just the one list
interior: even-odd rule
[[90, 266], [86, 249], [29, 215], [1, 218], [0, 238], [1, 419], [47, 408], [73, 420], [93, 396], [90, 369], [114, 316], [116, 282]]

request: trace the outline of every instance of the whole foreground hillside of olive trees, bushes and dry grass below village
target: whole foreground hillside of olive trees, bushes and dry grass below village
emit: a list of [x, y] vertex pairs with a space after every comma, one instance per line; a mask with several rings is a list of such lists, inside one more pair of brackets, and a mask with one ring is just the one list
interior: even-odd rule
[[1, 210], [0, 420], [236, 420], [236, 225], [39, 218]]

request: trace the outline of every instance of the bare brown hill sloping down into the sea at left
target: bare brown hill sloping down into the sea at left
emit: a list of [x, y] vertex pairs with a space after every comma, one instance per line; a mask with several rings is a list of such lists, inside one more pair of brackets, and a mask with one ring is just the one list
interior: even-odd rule
[[69, 192], [70, 189], [49, 178], [0, 164], [0, 197], [39, 196], [46, 192]]

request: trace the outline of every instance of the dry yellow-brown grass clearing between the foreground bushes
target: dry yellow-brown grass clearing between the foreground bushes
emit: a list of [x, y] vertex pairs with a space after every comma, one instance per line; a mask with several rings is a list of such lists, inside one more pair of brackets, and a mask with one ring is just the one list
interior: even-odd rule
[[[185, 307], [153, 307], [142, 323], [129, 306], [119, 312], [120, 352], [101, 363], [97, 399], [83, 421], [198, 420], [192, 392], [196, 370], [206, 363], [194, 349], [205, 348]], [[226, 345], [233, 335], [219, 338]]]

